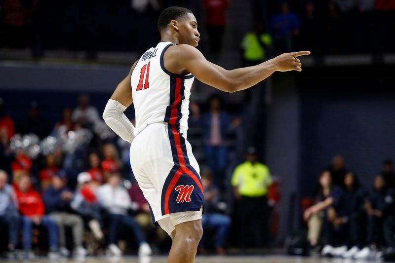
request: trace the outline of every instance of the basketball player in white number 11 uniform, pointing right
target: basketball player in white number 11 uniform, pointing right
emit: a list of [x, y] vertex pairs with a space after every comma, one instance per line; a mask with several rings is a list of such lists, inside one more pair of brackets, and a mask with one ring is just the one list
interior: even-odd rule
[[[136, 61], [103, 113], [106, 123], [131, 143], [130, 163], [150, 204], [153, 222], [172, 238], [169, 263], [192, 263], [202, 235], [203, 189], [187, 141], [188, 106], [194, 77], [226, 92], [247, 89], [276, 71], [301, 71], [286, 53], [254, 67], [225, 70], [195, 48], [197, 21], [191, 10], [169, 7], [159, 16], [161, 42]], [[136, 39], [138, 40], [138, 39]], [[136, 127], [123, 111], [134, 103]]]

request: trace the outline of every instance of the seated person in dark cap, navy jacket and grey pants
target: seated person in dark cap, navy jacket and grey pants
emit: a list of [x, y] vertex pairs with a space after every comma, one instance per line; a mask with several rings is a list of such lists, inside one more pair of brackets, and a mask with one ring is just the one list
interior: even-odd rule
[[82, 247], [83, 222], [80, 216], [73, 214], [70, 206], [74, 198], [73, 192], [66, 187], [66, 174], [60, 170], [52, 177], [52, 185], [45, 189], [42, 199], [46, 212], [55, 219], [59, 229], [60, 252], [69, 255], [66, 249], [65, 226], [71, 226], [74, 237], [74, 253], [76, 258], [84, 258], [85, 249]]

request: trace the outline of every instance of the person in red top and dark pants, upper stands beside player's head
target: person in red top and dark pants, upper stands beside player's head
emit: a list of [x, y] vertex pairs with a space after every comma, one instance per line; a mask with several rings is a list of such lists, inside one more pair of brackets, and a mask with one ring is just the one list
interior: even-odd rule
[[218, 54], [222, 48], [222, 38], [226, 27], [226, 10], [228, 0], [204, 0], [203, 8], [206, 14], [206, 27], [211, 52]]

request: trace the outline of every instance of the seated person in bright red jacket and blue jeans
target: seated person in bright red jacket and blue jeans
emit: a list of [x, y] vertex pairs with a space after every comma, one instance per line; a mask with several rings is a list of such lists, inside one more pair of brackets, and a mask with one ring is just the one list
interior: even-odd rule
[[32, 228], [34, 225], [42, 225], [48, 231], [48, 243], [50, 259], [60, 258], [58, 246], [58, 227], [55, 220], [44, 215], [44, 204], [40, 194], [31, 188], [29, 175], [19, 178], [18, 187], [15, 189], [18, 199], [19, 212], [22, 216], [23, 225], [23, 250], [26, 259], [33, 259], [32, 251]]

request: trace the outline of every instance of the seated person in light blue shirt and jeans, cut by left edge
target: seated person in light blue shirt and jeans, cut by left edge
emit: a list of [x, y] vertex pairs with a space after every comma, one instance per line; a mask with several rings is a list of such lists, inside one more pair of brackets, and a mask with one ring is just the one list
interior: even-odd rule
[[18, 244], [19, 214], [18, 202], [13, 188], [7, 184], [8, 175], [0, 170], [0, 225], [8, 226], [9, 258], [16, 259], [15, 247]]

